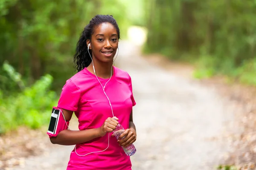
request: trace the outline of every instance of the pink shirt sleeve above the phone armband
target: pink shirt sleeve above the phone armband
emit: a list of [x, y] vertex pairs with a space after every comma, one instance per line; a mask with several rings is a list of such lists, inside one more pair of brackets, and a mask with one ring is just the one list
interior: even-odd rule
[[79, 100], [80, 100], [80, 90], [68, 79], [66, 84], [63, 86], [61, 91], [61, 96], [58, 101], [58, 108], [63, 108], [69, 111], [77, 111]]

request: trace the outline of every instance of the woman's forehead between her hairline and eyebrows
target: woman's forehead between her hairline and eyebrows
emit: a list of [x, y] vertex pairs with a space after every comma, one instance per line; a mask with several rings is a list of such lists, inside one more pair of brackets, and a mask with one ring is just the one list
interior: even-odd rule
[[117, 34], [116, 28], [111, 23], [101, 23], [94, 30], [94, 35], [104, 34], [104, 35], [112, 35]]

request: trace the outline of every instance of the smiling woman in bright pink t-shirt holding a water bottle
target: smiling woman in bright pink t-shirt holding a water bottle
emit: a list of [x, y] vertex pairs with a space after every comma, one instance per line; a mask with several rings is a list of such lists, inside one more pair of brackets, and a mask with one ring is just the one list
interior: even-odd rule
[[[58, 108], [67, 122], [75, 112], [79, 130], [62, 130], [50, 138], [53, 144], [76, 145], [67, 170], [131, 170], [130, 157], [121, 146], [136, 140], [132, 116], [136, 102], [131, 77], [113, 66], [119, 38], [116, 20], [96, 15], [77, 44], [74, 61], [78, 73], [64, 85]], [[125, 129], [119, 140], [113, 136], [118, 124]]]

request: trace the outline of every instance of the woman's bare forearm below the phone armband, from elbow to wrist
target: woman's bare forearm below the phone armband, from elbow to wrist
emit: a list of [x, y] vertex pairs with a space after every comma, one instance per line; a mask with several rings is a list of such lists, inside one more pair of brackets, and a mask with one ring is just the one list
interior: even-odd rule
[[50, 138], [53, 144], [74, 145], [100, 137], [99, 128], [88, 130], [62, 130], [58, 136]]

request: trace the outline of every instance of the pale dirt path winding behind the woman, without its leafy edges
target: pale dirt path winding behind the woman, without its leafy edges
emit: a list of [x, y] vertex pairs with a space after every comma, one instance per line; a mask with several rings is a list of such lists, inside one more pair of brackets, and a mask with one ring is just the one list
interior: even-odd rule
[[[222, 136], [226, 122], [233, 119], [221, 97], [212, 88], [148, 62], [131, 43], [121, 42], [119, 49], [116, 63], [131, 75], [137, 102], [133, 170], [215, 169], [229, 150]], [[73, 146], [50, 145], [12, 170], [65, 170]]]

